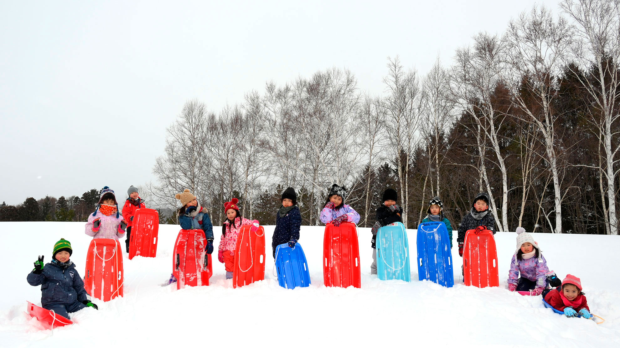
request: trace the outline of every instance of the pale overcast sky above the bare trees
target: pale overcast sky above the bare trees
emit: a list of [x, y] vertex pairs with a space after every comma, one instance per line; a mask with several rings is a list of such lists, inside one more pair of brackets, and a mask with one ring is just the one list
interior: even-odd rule
[[[154, 180], [185, 101], [213, 110], [265, 82], [352, 70], [383, 93], [386, 58], [448, 66], [477, 32], [503, 33], [534, 1], [0, 0], [0, 202], [123, 199]], [[558, 13], [558, 1], [536, 1]]]

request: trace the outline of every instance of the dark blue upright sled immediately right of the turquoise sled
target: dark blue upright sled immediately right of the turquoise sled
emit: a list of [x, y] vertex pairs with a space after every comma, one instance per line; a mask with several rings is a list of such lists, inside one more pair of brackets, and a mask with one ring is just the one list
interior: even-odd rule
[[452, 252], [448, 229], [441, 221], [418, 226], [418, 274], [420, 281], [429, 280], [441, 286], [454, 286]]

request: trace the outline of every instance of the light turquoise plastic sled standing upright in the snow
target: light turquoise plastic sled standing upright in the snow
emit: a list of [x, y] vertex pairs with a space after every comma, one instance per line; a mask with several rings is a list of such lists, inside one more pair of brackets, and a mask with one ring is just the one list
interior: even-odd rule
[[411, 281], [409, 240], [402, 223], [383, 226], [377, 232], [377, 275], [382, 281]]

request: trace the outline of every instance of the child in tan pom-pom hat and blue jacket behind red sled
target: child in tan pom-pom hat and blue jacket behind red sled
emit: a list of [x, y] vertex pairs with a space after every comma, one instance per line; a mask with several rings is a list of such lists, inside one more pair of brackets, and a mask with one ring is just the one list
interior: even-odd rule
[[[177, 212], [181, 229], [201, 229], [205, 232], [206, 253], [213, 253], [213, 224], [211, 224], [209, 211], [198, 205], [197, 197], [192, 195], [190, 189], [185, 189], [174, 197], [181, 201], [181, 208]], [[168, 284], [172, 284], [175, 281], [177, 281], [177, 278], [170, 274]]]

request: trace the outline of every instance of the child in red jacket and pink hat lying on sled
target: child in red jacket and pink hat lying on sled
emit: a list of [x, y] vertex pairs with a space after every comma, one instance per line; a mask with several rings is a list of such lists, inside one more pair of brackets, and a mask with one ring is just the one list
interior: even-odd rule
[[546, 290], [543, 292], [544, 300], [553, 308], [564, 312], [565, 316], [577, 316], [579, 313], [583, 318], [590, 319], [590, 307], [582, 292], [581, 279], [566, 274], [561, 287]]

